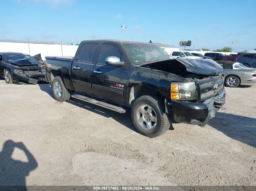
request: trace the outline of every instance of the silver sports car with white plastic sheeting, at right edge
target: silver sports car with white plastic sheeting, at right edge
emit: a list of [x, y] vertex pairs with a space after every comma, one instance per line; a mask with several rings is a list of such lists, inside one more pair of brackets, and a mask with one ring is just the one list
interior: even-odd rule
[[256, 68], [247, 68], [240, 63], [218, 62], [224, 68], [226, 86], [236, 88], [239, 85], [256, 85]]

